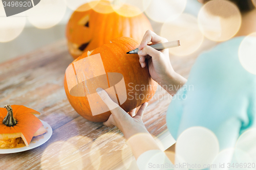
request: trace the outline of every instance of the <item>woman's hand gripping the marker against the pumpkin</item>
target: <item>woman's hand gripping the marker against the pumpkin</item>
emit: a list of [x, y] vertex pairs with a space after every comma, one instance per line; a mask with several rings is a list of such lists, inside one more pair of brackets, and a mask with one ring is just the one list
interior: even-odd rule
[[[157, 51], [151, 46], [147, 45], [167, 42], [167, 39], [158, 36], [156, 33], [148, 30], [146, 31], [139, 48], [139, 62], [141, 67], [146, 66], [146, 59], [148, 63], [148, 70], [153, 80], [161, 85], [170, 94], [175, 94], [177, 89], [186, 83], [186, 79], [177, 74], [169, 60], [169, 51], [164, 49]], [[169, 87], [170, 85], [177, 87]]]

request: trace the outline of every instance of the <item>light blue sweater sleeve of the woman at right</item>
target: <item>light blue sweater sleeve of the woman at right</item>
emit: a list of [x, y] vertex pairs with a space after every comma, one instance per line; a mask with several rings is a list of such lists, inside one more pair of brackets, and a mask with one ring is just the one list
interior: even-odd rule
[[223, 150], [234, 147], [239, 135], [255, 127], [256, 76], [239, 62], [242, 39], [233, 38], [198, 57], [166, 114], [176, 140], [187, 128], [202, 126], [216, 134]]

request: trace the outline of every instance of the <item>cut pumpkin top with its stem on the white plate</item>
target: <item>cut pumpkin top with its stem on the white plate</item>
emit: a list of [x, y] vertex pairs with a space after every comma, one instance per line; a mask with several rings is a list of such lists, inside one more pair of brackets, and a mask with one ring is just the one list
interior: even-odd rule
[[20, 105], [0, 108], [0, 148], [14, 148], [23, 141], [28, 147], [33, 136], [46, 133], [47, 130], [34, 114], [40, 113]]

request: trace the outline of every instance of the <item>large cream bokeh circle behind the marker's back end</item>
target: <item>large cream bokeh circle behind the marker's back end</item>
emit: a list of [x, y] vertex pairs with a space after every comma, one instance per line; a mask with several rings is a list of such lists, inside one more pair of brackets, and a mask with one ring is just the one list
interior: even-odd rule
[[161, 29], [162, 37], [168, 41], [180, 40], [179, 47], [169, 48], [169, 53], [177, 56], [187, 56], [201, 46], [204, 36], [199, 30], [197, 18], [183, 13], [177, 19], [166, 21]]

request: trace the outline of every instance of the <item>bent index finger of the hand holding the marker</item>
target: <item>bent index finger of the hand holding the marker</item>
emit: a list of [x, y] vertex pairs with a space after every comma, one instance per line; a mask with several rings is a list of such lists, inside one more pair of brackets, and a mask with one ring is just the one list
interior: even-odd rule
[[150, 42], [153, 42], [154, 44], [163, 43], [163, 42], [167, 42], [167, 39], [160, 37], [159, 35], [157, 35], [151, 30], [147, 30], [142, 38], [140, 46], [138, 47], [139, 50], [142, 50]]

